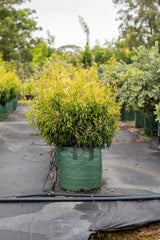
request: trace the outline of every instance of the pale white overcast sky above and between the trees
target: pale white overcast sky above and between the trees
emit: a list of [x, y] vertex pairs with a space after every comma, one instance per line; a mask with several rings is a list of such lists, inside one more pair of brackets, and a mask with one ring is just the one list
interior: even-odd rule
[[36, 36], [46, 38], [49, 30], [55, 36], [56, 48], [68, 44], [85, 46], [86, 35], [79, 15], [89, 27], [91, 47], [96, 40], [102, 46], [105, 40], [118, 37], [117, 9], [112, 0], [31, 0], [20, 5], [22, 7], [36, 10], [36, 21], [43, 28]]

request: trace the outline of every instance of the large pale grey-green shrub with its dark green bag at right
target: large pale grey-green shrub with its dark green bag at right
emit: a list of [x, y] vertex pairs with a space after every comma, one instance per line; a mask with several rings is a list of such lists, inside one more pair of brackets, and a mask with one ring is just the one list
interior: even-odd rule
[[134, 109], [144, 116], [142, 126], [144, 125], [145, 133], [157, 134], [158, 124], [155, 122], [154, 111], [156, 104], [160, 102], [158, 43], [149, 50], [141, 46], [135, 53], [132, 64], [127, 66], [127, 71], [121, 72], [118, 76], [120, 81], [123, 79], [119, 94], [128, 106], [132, 104]]

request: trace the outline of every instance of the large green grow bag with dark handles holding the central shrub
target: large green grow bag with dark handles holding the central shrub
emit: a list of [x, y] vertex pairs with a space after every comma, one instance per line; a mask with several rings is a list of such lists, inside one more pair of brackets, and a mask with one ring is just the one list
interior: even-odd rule
[[56, 152], [56, 166], [57, 164], [60, 168], [61, 188], [81, 191], [101, 186], [102, 155], [100, 148], [93, 148], [92, 151], [72, 147], [59, 148]]

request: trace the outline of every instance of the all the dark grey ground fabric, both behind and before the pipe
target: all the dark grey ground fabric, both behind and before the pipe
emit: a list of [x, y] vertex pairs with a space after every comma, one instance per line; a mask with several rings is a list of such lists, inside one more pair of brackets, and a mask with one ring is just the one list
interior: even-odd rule
[[[0, 122], [0, 197], [44, 193], [50, 146], [27, 125], [23, 106]], [[102, 186], [93, 194], [160, 194], [160, 151], [122, 128], [102, 152]], [[45, 188], [51, 186], [47, 181]], [[66, 193], [58, 182], [55, 192]], [[0, 240], [87, 240], [160, 221], [160, 200], [0, 203]]]

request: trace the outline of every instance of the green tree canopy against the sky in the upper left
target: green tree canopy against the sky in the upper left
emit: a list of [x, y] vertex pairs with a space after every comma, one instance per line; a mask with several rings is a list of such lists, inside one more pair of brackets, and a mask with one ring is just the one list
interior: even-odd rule
[[31, 9], [0, 7], [0, 52], [4, 60], [25, 62], [30, 57], [28, 50], [35, 42], [32, 32], [39, 29], [34, 13]]

